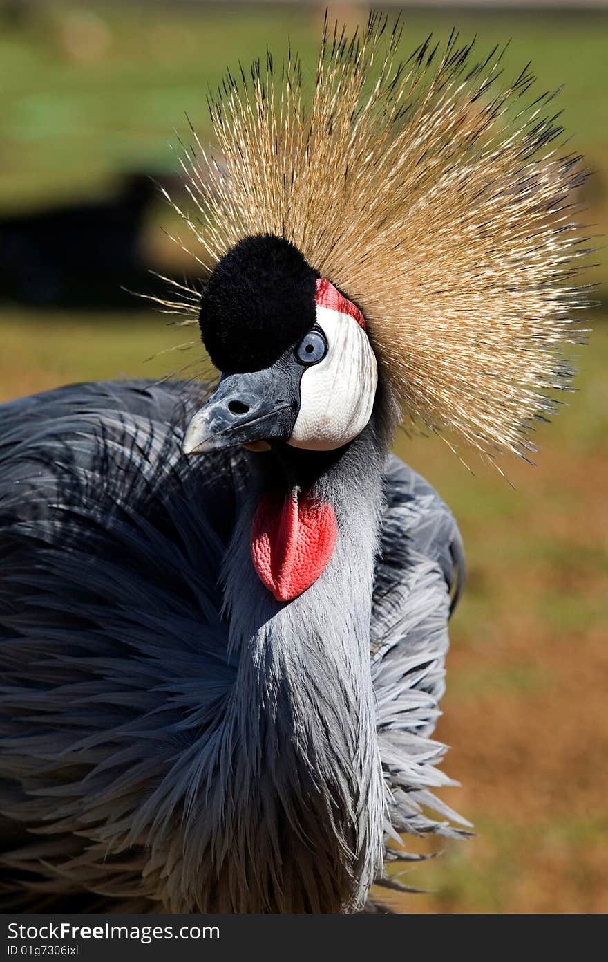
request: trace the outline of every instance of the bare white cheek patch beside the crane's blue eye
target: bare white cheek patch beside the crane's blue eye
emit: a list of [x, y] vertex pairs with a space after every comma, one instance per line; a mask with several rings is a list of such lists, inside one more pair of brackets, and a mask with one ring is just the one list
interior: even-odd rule
[[300, 411], [289, 444], [330, 451], [353, 441], [372, 416], [377, 361], [368, 336], [353, 316], [317, 304], [317, 323], [328, 353], [304, 370]]

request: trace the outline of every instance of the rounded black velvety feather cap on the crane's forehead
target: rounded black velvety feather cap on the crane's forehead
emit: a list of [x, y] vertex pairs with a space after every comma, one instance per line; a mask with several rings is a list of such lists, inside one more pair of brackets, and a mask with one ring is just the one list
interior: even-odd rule
[[316, 322], [318, 276], [294, 244], [276, 235], [231, 247], [201, 298], [201, 334], [215, 367], [262, 370], [301, 341]]

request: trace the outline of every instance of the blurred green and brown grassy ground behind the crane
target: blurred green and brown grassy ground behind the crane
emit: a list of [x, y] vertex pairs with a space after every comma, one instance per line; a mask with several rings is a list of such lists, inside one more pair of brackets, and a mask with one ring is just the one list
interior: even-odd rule
[[[312, 65], [324, 8], [0, 3], [0, 264], [16, 242], [15, 217], [111, 201], [124, 174], [170, 180], [178, 164], [167, 141], [176, 142], [174, 129], [186, 135], [184, 113], [207, 139], [207, 85], [267, 45], [279, 58], [288, 36]], [[365, 18], [357, 4], [329, 9], [351, 24]], [[605, 234], [606, 13], [433, 8], [406, 10], [404, 22], [412, 48], [431, 30], [447, 38], [454, 25], [476, 34], [480, 50], [511, 38], [508, 70], [531, 60], [539, 92], [565, 84], [559, 103], [572, 147], [596, 171], [585, 220]], [[170, 212], [147, 205], [137, 263], [191, 271], [161, 226], [174, 229]], [[93, 268], [109, 242], [103, 232], [87, 238]], [[438, 737], [451, 746], [445, 768], [463, 783], [444, 797], [477, 832], [401, 873], [430, 891], [396, 896], [400, 911], [608, 911], [605, 250], [596, 261], [586, 279], [604, 307], [590, 316], [577, 392], [539, 432], [538, 467], [505, 466], [511, 487], [473, 455], [467, 470], [440, 441], [398, 445], [450, 504], [467, 549]], [[47, 300], [33, 306], [21, 291], [0, 303], [0, 400], [89, 378], [157, 377], [197, 356], [159, 354], [189, 337], [141, 302], [102, 310], [92, 297], [66, 310]]]

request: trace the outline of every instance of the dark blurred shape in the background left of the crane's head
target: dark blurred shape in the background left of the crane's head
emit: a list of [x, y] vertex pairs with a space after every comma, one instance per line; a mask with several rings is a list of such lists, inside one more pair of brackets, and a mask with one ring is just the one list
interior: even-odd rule
[[132, 174], [107, 199], [0, 217], [0, 301], [140, 308], [129, 291], [158, 290], [140, 253], [157, 196], [151, 177]]

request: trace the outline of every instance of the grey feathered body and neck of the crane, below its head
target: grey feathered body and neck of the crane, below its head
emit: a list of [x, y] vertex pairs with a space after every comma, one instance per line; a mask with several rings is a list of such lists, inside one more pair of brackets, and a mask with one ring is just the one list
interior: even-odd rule
[[145, 382], [0, 409], [6, 908], [353, 911], [391, 834], [460, 831], [431, 794], [448, 508], [371, 424], [319, 481], [328, 567], [282, 605], [241, 537], [274, 455], [184, 458], [193, 410]]

